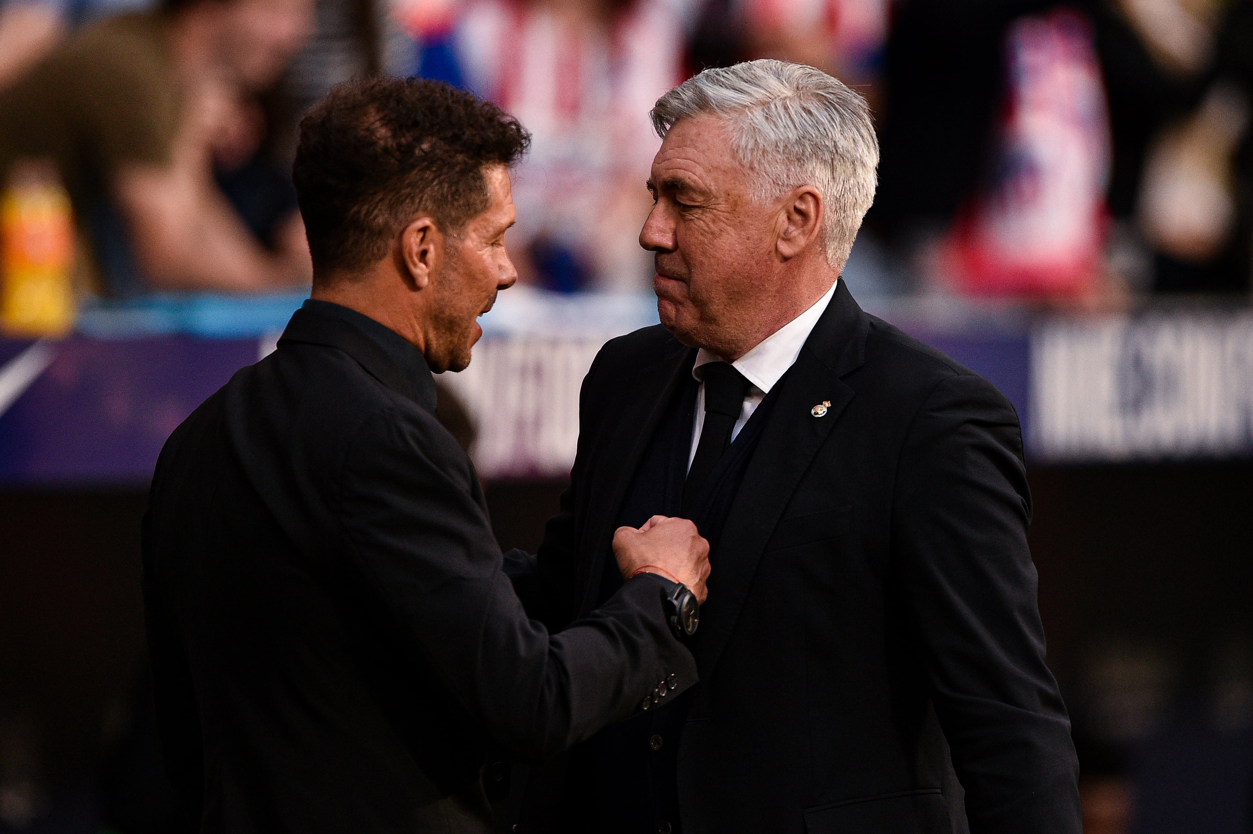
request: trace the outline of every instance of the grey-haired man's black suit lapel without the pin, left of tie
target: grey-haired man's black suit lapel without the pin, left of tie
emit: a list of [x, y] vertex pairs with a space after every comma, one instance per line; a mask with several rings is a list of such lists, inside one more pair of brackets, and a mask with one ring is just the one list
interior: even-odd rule
[[586, 532], [580, 543], [588, 548], [591, 559], [579, 560], [579, 576], [575, 580], [575, 587], [581, 591], [579, 616], [595, 607], [596, 589], [600, 587], [600, 577], [609, 561], [613, 532], [618, 527], [618, 513], [626, 498], [626, 490], [667, 407], [679, 386], [692, 377], [693, 362], [695, 348], [685, 348], [675, 342], [675, 349], [663, 362], [635, 374], [619, 399], [614, 431], [596, 457], [599, 466], [590, 473], [584, 527]]

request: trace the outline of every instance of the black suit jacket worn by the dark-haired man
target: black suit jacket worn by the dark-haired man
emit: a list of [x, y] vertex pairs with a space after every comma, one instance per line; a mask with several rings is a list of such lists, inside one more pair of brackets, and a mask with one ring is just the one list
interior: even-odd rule
[[167, 765], [202, 831], [481, 831], [495, 739], [551, 755], [695, 680], [665, 584], [550, 635], [421, 353], [309, 302], [170, 437], [144, 522]]

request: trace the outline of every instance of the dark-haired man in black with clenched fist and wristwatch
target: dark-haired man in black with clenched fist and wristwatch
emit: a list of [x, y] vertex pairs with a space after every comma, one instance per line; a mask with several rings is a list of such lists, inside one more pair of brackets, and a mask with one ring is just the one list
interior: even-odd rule
[[621, 591], [550, 635], [434, 416], [431, 372], [466, 367], [516, 281], [526, 144], [421, 80], [301, 124], [313, 298], [174, 432], [144, 520], [162, 741], [200, 831], [491, 831], [489, 741], [555, 754], [695, 682], [695, 527], [619, 530]]

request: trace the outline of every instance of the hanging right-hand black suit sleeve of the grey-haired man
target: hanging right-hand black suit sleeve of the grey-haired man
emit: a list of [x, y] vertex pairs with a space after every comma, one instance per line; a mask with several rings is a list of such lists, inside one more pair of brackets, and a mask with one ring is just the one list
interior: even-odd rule
[[900, 460], [892, 560], [972, 834], [1081, 831], [1070, 721], [1045, 665], [1030, 493], [1012, 406], [941, 381]]

